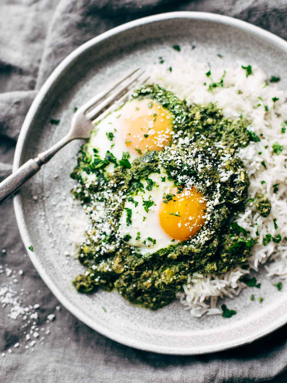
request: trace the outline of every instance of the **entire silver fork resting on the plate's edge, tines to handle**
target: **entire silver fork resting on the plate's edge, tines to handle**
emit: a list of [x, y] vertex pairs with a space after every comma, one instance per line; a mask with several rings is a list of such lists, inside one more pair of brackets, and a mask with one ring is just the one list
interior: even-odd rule
[[114, 83], [82, 105], [73, 115], [70, 130], [59, 142], [50, 149], [39, 153], [36, 158], [25, 162], [16, 172], [0, 183], [0, 205], [68, 142], [74, 139], [88, 139], [93, 129], [93, 123], [103, 119], [109, 112], [127, 101], [132, 90], [147, 81], [148, 78], [149, 75], [144, 70], [140, 68], [132, 70], [119, 82]]

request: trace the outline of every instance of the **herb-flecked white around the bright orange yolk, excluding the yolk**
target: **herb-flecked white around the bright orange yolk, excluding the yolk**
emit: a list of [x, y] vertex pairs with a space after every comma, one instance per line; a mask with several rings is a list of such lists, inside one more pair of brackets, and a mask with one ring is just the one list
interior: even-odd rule
[[[123, 210], [119, 221], [119, 234], [125, 236], [129, 234], [132, 238], [127, 241], [131, 246], [135, 247], [135, 251], [140, 254], [155, 252], [159, 249], [167, 247], [169, 245], [177, 244], [178, 240], [172, 242], [173, 238], [170, 237], [160, 226], [160, 205], [163, 201], [163, 194], [169, 193], [172, 188], [174, 188], [174, 183], [168, 180], [168, 176], [164, 172], [163, 168], [160, 168], [161, 173], [151, 173], [148, 178], [152, 179], [155, 182], [155, 185], [152, 187], [152, 190], [149, 191], [146, 189], [148, 183], [144, 179], [140, 180], [143, 184], [144, 191], [139, 192], [137, 195], [134, 195], [134, 201], [138, 202], [138, 205], [135, 207], [135, 204], [131, 201], [126, 200], [124, 204], [124, 209], [129, 208], [132, 210], [131, 221], [132, 224], [127, 226], [127, 211]], [[161, 181], [161, 177], [165, 177], [165, 181]], [[149, 196], [151, 196], [150, 201], [154, 202], [148, 213], [145, 211], [145, 206], [143, 206], [143, 200], [147, 201]], [[143, 220], [146, 217], [145, 220]], [[140, 239], [136, 240], [137, 232], [140, 232]], [[156, 240], [156, 243], [148, 241], [147, 238], [150, 237]], [[145, 241], [145, 242], [144, 242]]]

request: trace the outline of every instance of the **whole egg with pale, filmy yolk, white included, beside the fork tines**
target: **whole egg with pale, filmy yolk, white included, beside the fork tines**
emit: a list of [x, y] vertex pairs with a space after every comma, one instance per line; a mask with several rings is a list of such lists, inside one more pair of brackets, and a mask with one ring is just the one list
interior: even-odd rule
[[[128, 101], [121, 109], [101, 120], [91, 134], [88, 152], [104, 159], [109, 151], [117, 161], [128, 152], [130, 162], [147, 149], [161, 151], [171, 141], [173, 117], [170, 111], [152, 99]], [[105, 170], [113, 172], [114, 164]]]

